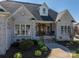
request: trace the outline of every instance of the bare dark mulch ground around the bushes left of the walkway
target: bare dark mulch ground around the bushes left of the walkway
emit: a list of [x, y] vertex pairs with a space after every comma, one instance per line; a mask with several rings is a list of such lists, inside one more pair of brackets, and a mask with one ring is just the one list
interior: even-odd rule
[[34, 55], [34, 51], [38, 48], [38, 46], [31, 47], [28, 50], [22, 51], [17, 46], [11, 46], [5, 55], [1, 55], [0, 58], [13, 58], [16, 52], [22, 52], [23, 58], [46, 58], [48, 57], [50, 50], [48, 52], [43, 52], [42, 56], [36, 57]]

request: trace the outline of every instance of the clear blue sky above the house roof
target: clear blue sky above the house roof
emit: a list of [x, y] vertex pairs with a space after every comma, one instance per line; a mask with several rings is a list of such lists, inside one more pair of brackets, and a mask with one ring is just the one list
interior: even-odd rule
[[68, 9], [73, 18], [77, 22], [79, 22], [79, 0], [15, 0], [15, 1], [30, 2], [37, 4], [43, 4], [44, 2], [46, 2], [49, 8], [57, 12], [61, 12], [65, 9]]

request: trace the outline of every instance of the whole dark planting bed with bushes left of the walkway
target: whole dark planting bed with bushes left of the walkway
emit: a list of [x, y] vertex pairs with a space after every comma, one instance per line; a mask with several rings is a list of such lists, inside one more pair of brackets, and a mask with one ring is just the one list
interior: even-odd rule
[[6, 54], [1, 55], [0, 57], [17, 58], [15, 54], [18, 52], [20, 53], [20, 58], [46, 58], [48, 57], [50, 50], [42, 41], [23, 40], [21, 42], [13, 43]]

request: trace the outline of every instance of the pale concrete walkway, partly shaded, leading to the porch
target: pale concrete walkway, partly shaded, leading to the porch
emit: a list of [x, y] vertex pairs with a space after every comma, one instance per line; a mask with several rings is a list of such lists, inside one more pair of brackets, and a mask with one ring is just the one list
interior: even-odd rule
[[57, 43], [46, 43], [51, 52], [48, 58], [72, 58], [69, 49]]

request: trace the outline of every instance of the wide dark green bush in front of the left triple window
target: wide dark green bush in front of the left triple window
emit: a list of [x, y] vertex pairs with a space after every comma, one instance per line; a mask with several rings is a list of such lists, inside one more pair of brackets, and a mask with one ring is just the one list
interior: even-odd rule
[[22, 40], [19, 44], [19, 48], [21, 50], [26, 50], [34, 46], [34, 42], [32, 40]]

